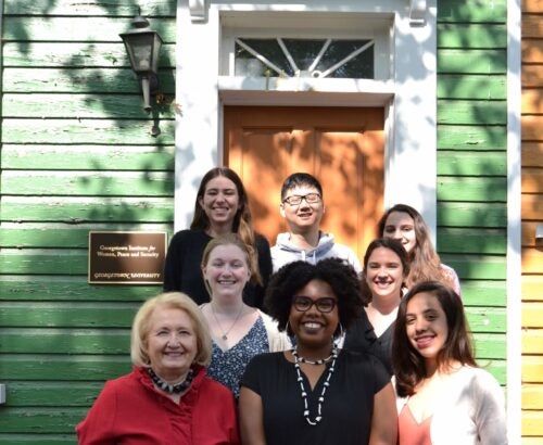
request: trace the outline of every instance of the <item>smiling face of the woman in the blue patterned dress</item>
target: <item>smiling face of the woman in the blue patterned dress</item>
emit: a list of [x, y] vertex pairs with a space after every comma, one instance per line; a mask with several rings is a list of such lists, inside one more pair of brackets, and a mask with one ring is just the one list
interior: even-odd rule
[[247, 254], [235, 244], [220, 244], [213, 249], [202, 272], [212, 298], [241, 298], [251, 277]]

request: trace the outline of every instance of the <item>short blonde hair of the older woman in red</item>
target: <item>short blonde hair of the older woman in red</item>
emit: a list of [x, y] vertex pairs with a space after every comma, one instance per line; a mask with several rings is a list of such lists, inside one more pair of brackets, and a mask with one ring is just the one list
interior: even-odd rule
[[149, 320], [154, 309], [159, 306], [168, 309], [185, 312], [192, 321], [197, 336], [198, 353], [194, 363], [207, 366], [211, 361], [211, 335], [202, 313], [198, 305], [181, 292], [167, 292], [156, 295], [141, 305], [132, 322], [130, 356], [134, 365], [149, 367], [149, 352], [147, 338], [151, 329]]

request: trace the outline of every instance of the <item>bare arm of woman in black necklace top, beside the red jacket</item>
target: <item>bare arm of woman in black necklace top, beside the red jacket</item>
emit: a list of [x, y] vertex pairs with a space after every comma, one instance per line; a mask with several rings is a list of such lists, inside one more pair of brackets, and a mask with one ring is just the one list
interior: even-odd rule
[[264, 435], [262, 398], [254, 391], [241, 386], [239, 396], [239, 423], [241, 443], [266, 445]]

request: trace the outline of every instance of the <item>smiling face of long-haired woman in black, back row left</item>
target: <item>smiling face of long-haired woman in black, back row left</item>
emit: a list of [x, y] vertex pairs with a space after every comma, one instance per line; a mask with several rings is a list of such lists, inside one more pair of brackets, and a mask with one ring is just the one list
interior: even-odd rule
[[212, 229], [227, 226], [231, 230], [240, 200], [238, 189], [230, 179], [224, 176], [211, 179], [198, 202], [207, 215]]

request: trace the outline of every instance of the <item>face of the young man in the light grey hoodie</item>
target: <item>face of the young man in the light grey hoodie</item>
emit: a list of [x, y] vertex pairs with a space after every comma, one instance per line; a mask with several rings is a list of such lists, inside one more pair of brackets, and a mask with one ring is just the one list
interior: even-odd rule
[[[288, 190], [285, 199], [289, 199], [290, 196], [294, 195], [305, 196], [310, 193], [316, 193], [320, 195], [319, 191], [316, 188], [301, 185]], [[318, 228], [325, 213], [325, 205], [321, 199], [318, 200], [318, 202], [312, 204], [308, 204], [306, 200], [302, 200], [300, 204], [295, 205], [283, 202], [281, 203], [280, 212], [282, 217], [287, 219], [291, 231], [299, 233], [304, 232], [311, 228]]]

